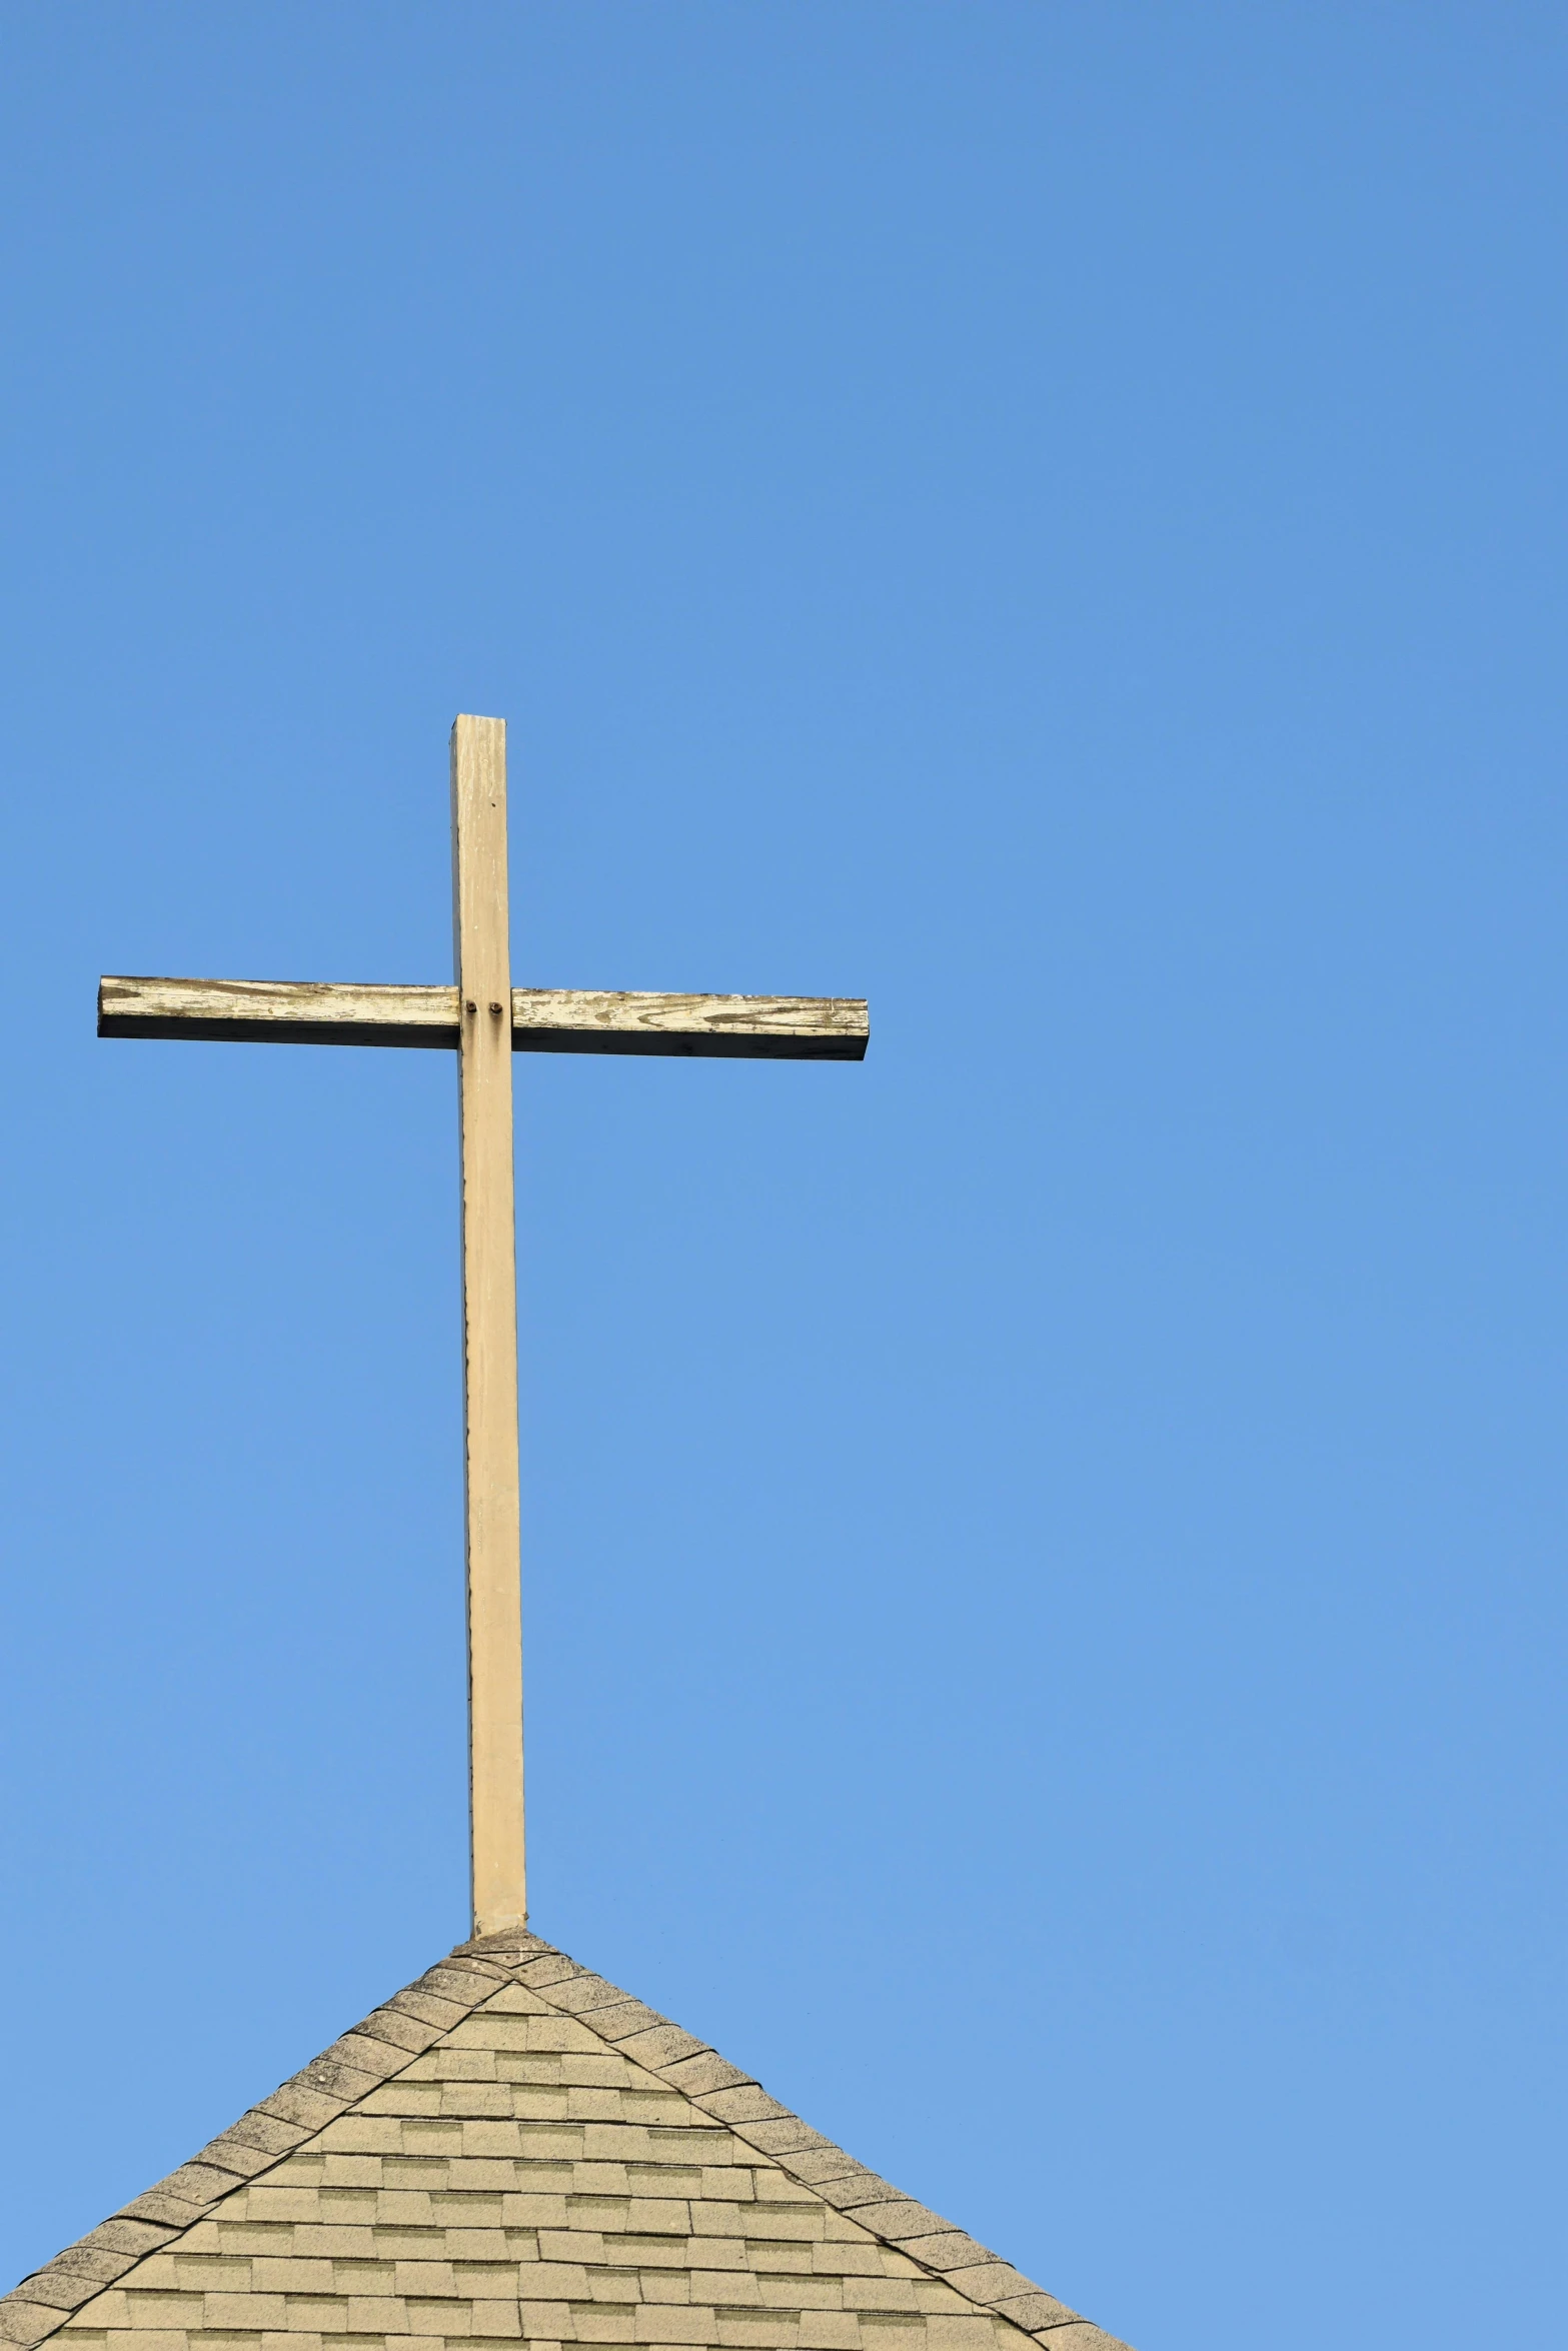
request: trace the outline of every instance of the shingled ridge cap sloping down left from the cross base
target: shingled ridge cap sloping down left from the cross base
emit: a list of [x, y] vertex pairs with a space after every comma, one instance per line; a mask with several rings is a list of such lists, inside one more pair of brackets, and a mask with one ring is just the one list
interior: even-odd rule
[[[534, 1942], [536, 1937], [527, 1937]], [[550, 1944], [541, 1944], [550, 1949]], [[395, 2081], [404, 2067], [456, 2031], [503, 1984], [505, 1968], [470, 1954], [463, 1944], [449, 1958], [381, 2001], [367, 2017], [339, 2034], [320, 2057], [301, 2067], [268, 2097], [247, 2106], [237, 2123], [197, 2149], [155, 2186], [134, 2196], [89, 2229], [52, 2262], [28, 2271], [0, 2295], [0, 2342], [31, 2346], [66, 2325], [73, 2311], [134, 2269], [148, 2252], [176, 2245], [223, 2196], [266, 2177], [277, 2163], [308, 2146], [341, 2114], [350, 2114], [371, 2090]], [[393, 2059], [388, 2064], [388, 2059]]]

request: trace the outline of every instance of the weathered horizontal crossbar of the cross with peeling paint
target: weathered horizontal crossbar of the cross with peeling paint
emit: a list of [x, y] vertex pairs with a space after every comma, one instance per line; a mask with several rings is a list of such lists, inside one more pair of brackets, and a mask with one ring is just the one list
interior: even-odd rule
[[[99, 983], [99, 1037], [221, 1037], [235, 1044], [409, 1044], [454, 1051], [456, 987], [331, 980]], [[475, 1006], [473, 1018], [487, 1018]], [[858, 997], [665, 997], [512, 987], [515, 1053], [672, 1053], [717, 1060], [863, 1060]]]

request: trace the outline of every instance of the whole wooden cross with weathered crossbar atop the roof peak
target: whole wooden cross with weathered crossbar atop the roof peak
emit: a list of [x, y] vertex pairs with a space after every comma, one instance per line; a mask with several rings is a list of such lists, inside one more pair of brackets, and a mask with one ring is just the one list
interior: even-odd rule
[[451, 729], [456, 987], [315, 980], [99, 985], [99, 1037], [411, 1044], [458, 1056], [463, 1159], [463, 1460], [468, 1824], [475, 1935], [527, 1923], [517, 1512], [512, 1053], [863, 1060], [867, 1009], [844, 997], [658, 997], [512, 987], [505, 910], [505, 719]]

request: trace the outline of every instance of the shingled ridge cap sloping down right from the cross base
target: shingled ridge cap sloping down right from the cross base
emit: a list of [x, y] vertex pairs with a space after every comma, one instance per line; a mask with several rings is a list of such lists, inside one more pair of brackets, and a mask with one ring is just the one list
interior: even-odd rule
[[976, 2311], [1006, 2318], [1041, 2351], [1128, 2351], [1114, 2335], [1067, 2309], [964, 2229], [954, 2229], [929, 2205], [856, 2163], [790, 2106], [780, 2106], [752, 2074], [719, 2057], [708, 2041], [661, 2017], [609, 1977], [578, 1965], [541, 1935], [484, 1935], [458, 1944], [451, 1956], [503, 1963], [527, 1991], [576, 2017], [607, 2048], [670, 2083], [823, 2203], [917, 2262], [931, 2278], [954, 2288]]

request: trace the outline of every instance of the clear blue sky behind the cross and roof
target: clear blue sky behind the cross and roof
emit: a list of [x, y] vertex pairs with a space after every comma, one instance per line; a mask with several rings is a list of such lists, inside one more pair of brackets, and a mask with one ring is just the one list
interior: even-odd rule
[[1561, 2327], [1568, 19], [0, 26], [0, 2271], [465, 1933], [444, 1056], [524, 1060], [536, 1925], [1143, 2351]]

